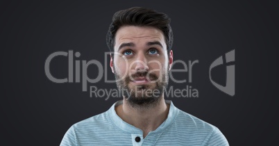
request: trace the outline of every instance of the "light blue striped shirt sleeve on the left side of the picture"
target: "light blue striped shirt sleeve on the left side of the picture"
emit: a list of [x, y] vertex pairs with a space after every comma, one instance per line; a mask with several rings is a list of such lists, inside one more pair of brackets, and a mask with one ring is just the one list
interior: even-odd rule
[[60, 146], [75, 146], [76, 145], [76, 133], [74, 127], [70, 127], [65, 133]]

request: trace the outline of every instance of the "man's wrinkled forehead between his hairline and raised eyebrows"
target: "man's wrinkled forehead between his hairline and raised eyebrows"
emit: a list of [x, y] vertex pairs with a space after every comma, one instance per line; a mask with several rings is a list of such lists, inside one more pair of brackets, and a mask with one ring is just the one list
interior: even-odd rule
[[142, 44], [154, 41], [160, 42], [166, 48], [164, 35], [160, 29], [149, 26], [122, 26], [115, 35], [115, 51], [122, 43]]

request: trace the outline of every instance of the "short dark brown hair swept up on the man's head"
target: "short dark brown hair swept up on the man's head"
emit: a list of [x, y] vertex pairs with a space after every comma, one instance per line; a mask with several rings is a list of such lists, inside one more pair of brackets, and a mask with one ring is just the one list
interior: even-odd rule
[[167, 52], [171, 50], [173, 44], [173, 33], [170, 26], [171, 19], [164, 13], [158, 13], [149, 8], [133, 7], [126, 10], [119, 10], [112, 17], [112, 23], [106, 36], [108, 48], [114, 51], [115, 34], [121, 26], [151, 26], [160, 29], [164, 34], [167, 44]]

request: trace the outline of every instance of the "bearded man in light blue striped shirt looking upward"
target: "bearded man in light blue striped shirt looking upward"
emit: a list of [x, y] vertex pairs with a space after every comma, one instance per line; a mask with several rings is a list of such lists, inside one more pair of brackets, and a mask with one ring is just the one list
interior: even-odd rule
[[164, 13], [120, 10], [107, 35], [110, 67], [124, 99], [74, 124], [60, 145], [228, 145], [217, 127], [164, 100], [173, 35]]

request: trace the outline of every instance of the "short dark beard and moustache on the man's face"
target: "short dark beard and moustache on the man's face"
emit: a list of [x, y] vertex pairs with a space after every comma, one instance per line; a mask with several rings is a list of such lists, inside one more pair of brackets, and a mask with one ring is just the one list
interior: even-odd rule
[[[146, 76], [148, 72], [137, 72], [132, 74], [134, 79], [137, 76]], [[124, 99], [126, 99], [128, 106], [131, 106], [137, 110], [153, 108], [160, 103], [164, 89], [167, 88], [168, 76], [162, 74], [162, 81], [158, 80], [155, 74], [149, 73], [149, 76], [155, 82], [155, 88], [151, 88], [149, 85], [135, 86], [135, 89], [128, 87], [128, 83], [131, 81], [130, 76], [126, 76], [124, 79], [115, 73], [115, 79], [117, 80], [117, 88], [122, 93]], [[135, 92], [135, 91], [139, 92]], [[154, 92], [155, 91], [155, 92]]]

